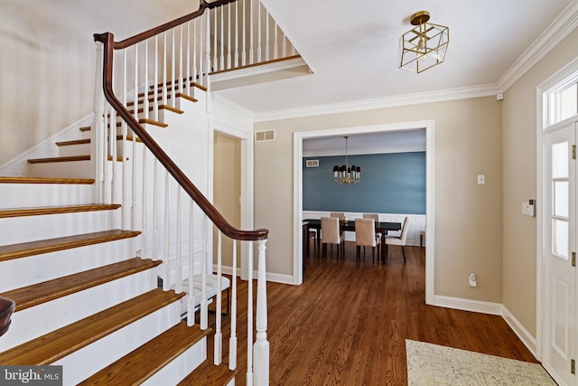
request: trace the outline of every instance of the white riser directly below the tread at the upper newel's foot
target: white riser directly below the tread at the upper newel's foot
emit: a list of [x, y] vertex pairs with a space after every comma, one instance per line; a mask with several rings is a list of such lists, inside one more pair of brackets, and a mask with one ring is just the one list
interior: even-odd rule
[[91, 203], [92, 184], [0, 184], [2, 208]]

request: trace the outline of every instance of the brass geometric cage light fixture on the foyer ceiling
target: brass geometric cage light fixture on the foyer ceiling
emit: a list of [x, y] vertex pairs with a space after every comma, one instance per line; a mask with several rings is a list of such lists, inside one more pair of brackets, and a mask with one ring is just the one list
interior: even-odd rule
[[430, 13], [412, 14], [410, 23], [415, 28], [399, 40], [399, 68], [419, 73], [443, 63], [450, 42], [450, 29], [444, 25], [427, 23]]

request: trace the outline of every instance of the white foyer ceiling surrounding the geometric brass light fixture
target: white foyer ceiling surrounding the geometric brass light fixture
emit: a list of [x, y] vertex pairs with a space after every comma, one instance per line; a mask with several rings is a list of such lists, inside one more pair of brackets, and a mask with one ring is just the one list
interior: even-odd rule
[[[575, 16], [577, 1], [262, 0], [313, 73], [218, 92], [257, 118], [456, 89], [491, 95], [533, 43]], [[444, 63], [415, 74], [397, 68], [397, 50], [413, 27], [409, 16], [421, 10], [449, 27], [450, 43]]]

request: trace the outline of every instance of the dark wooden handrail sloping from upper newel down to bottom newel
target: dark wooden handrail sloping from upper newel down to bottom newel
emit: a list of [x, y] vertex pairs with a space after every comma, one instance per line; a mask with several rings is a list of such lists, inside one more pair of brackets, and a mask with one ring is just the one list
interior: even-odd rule
[[[222, 3], [222, 1], [211, 4], [216, 3]], [[234, 240], [266, 240], [269, 233], [269, 231], [266, 229], [241, 231], [230, 225], [228, 221], [226, 221], [225, 218], [219, 213], [219, 211], [217, 211], [217, 209], [210, 203], [210, 201], [202, 193], [200, 193], [199, 189], [197, 189], [197, 187], [192, 184], [189, 177], [187, 177], [186, 174], [184, 174], [182, 170], [172, 161], [169, 155], [164, 152], [161, 146], [159, 146], [156, 141], [154, 141], [153, 137], [151, 137], [146, 132], [146, 130], [144, 130], [144, 127], [142, 127], [138, 121], [129, 113], [129, 111], [120, 102], [120, 100], [117, 99], [112, 89], [112, 69], [114, 55], [113, 48], [115, 45], [114, 34], [95, 33], [94, 39], [95, 42], [102, 42], [104, 45], [104, 69], [102, 80], [105, 98], [108, 100], [110, 105], [117, 110], [118, 115], [126, 121], [130, 128], [133, 129], [136, 136], [141, 138], [144, 146], [148, 147], [151, 153], [153, 153], [159, 162], [166, 168], [166, 170], [172, 175], [176, 182], [181, 185], [182, 189], [189, 194], [194, 202], [199, 205], [202, 212], [205, 212], [205, 214], [209, 216], [210, 221], [212, 221], [225, 235]]]

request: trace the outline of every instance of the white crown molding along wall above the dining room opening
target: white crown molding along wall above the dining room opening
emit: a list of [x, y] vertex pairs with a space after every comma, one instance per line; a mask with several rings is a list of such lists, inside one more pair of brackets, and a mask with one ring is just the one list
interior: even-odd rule
[[488, 97], [490, 95], [496, 95], [498, 90], [498, 84], [486, 84], [457, 89], [438, 89], [435, 91], [396, 95], [387, 98], [360, 99], [331, 105], [319, 105], [308, 108], [292, 108], [266, 113], [256, 113], [255, 121], [264, 122], [278, 119], [303, 118], [378, 108], [395, 108], [399, 106], [433, 103], [446, 100]]

